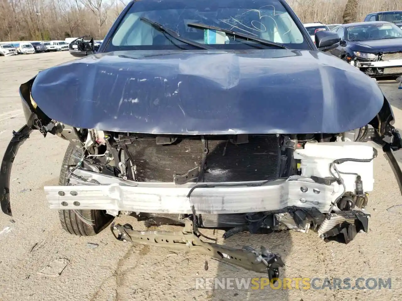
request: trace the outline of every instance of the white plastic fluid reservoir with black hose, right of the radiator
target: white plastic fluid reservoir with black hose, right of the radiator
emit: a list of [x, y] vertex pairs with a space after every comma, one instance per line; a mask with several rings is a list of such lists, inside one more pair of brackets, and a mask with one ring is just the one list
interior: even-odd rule
[[[329, 172], [330, 163], [336, 159], [371, 159], [373, 158], [373, 147], [365, 142], [307, 142], [304, 149], [297, 149], [293, 157], [301, 160], [301, 175], [304, 177], [331, 177]], [[338, 171], [345, 173], [357, 173], [363, 181], [363, 190], [372, 191], [374, 184], [373, 160], [371, 162], [347, 161], [337, 164]], [[334, 169], [332, 172], [335, 176]], [[355, 191], [355, 175], [340, 174], [346, 191]]]

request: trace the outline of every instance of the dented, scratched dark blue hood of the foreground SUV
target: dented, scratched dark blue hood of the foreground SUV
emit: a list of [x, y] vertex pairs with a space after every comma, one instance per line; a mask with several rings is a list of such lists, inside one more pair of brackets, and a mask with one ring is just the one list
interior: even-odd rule
[[122, 51], [39, 72], [32, 97], [78, 128], [155, 134], [336, 133], [369, 123], [377, 83], [319, 51]]

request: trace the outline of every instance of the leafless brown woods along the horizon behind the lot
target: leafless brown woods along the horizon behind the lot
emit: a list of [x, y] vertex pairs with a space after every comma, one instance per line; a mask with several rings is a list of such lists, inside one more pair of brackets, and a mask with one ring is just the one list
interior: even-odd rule
[[[105, 36], [130, 0], [0, 0], [0, 41]], [[371, 12], [402, 10], [402, 0], [287, 0], [302, 22], [363, 21]], [[36, 14], [40, 13], [40, 16]], [[39, 18], [38, 18], [39, 17]]]

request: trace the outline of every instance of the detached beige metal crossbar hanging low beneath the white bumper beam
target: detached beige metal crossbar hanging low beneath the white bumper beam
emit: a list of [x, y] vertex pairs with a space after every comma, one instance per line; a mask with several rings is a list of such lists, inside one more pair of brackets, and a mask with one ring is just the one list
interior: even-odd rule
[[[112, 224], [111, 231], [117, 240], [123, 242], [136, 242], [148, 244], [151, 246], [161, 246], [173, 250], [185, 252], [195, 252], [211, 256], [222, 262], [234, 264], [253, 270], [257, 273], [268, 273], [270, 281], [276, 282], [279, 277], [279, 267], [283, 267], [281, 257], [269, 252], [261, 246], [257, 251], [250, 246], [244, 246], [242, 249], [236, 249], [229, 246], [204, 242], [193, 232], [193, 222], [188, 218], [183, 220], [185, 226], [182, 231], [137, 231], [133, 230], [129, 224]], [[118, 235], [115, 235], [118, 232]]]

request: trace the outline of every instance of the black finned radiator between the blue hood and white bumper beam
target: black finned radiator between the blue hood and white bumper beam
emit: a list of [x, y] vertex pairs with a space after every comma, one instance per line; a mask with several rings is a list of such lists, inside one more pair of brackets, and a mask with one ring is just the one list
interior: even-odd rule
[[[205, 136], [207, 157], [203, 182], [240, 182], [276, 179], [279, 173], [279, 138], [274, 134], [249, 135], [248, 142], [234, 144], [230, 136]], [[136, 180], [173, 182], [200, 167], [203, 161], [201, 136], [178, 136], [172, 144], [156, 144], [156, 135], [123, 136], [135, 165]], [[192, 180], [193, 182], [196, 180]]]

